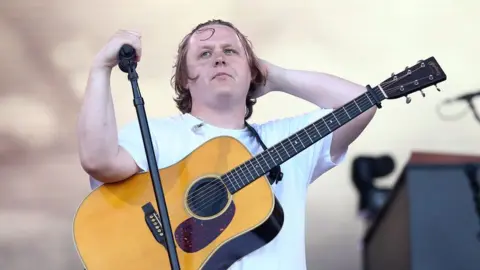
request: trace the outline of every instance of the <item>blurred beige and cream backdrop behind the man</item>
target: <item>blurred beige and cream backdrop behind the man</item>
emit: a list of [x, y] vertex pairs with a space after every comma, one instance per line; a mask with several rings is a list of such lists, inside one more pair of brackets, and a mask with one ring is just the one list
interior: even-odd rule
[[[89, 186], [78, 164], [75, 123], [96, 51], [119, 28], [141, 31], [138, 72], [147, 113], [170, 115], [177, 112], [169, 85], [176, 46], [192, 27], [214, 17], [236, 24], [262, 58], [289, 68], [376, 85], [433, 55], [447, 72], [440, 93], [429, 88], [426, 98], [415, 94], [409, 105], [384, 102], [347, 161], [310, 188], [309, 268], [360, 269], [363, 226], [349, 178], [352, 158], [393, 154], [393, 180], [412, 150], [480, 154], [480, 125], [470, 112], [445, 122], [435, 111], [443, 100], [480, 87], [479, 10], [473, 0], [1, 1], [0, 269], [81, 267], [71, 222]], [[125, 74], [116, 70], [112, 80], [123, 125], [136, 119], [132, 92]], [[253, 118], [311, 108], [271, 94], [256, 105]]]

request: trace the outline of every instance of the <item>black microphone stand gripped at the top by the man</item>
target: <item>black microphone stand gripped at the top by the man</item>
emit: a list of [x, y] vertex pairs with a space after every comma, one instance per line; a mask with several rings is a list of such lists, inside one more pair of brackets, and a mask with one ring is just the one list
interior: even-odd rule
[[133, 90], [133, 103], [137, 111], [138, 122], [142, 133], [143, 145], [147, 154], [148, 168], [150, 170], [150, 177], [152, 179], [153, 190], [157, 201], [157, 207], [160, 214], [160, 219], [163, 225], [164, 237], [166, 240], [167, 252], [170, 260], [172, 270], [180, 270], [178, 263], [178, 256], [176, 246], [173, 239], [173, 233], [168, 218], [167, 205], [165, 202], [165, 195], [161, 185], [160, 174], [158, 173], [158, 165], [155, 159], [155, 152], [153, 150], [152, 138], [150, 136], [150, 128], [148, 126], [147, 116], [144, 108], [144, 100], [138, 87], [138, 74], [136, 72], [135, 49], [130, 45], [123, 45], [118, 54], [118, 66], [120, 70], [128, 73], [128, 80], [131, 82]]

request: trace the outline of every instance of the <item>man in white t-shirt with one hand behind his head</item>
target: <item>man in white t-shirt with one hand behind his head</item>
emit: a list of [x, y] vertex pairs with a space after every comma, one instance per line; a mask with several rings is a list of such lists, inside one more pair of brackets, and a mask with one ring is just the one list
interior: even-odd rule
[[[140, 60], [140, 35], [116, 33], [95, 57], [79, 117], [80, 160], [93, 178], [92, 188], [148, 170], [138, 123], [133, 121], [117, 136], [109, 79], [119, 48], [125, 43], [136, 49]], [[185, 37], [172, 79], [181, 114], [149, 119], [159, 168], [178, 162], [205, 141], [221, 135], [240, 140], [254, 155], [263, 151], [245, 120], [252, 113], [255, 98], [268, 92], [282, 91], [319, 107], [299, 116], [252, 124], [270, 147], [366, 91], [332, 75], [287, 70], [260, 60], [245, 36], [221, 20], [200, 24]], [[281, 165], [283, 179], [272, 188], [285, 212], [283, 229], [271, 243], [230, 269], [306, 268], [308, 185], [343, 161], [348, 146], [374, 114], [372, 108]]]

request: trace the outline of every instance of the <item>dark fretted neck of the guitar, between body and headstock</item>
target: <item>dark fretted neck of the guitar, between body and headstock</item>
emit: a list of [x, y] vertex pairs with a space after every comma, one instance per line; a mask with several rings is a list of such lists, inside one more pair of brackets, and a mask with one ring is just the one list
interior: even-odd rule
[[[375, 95], [375, 96], [372, 96]], [[376, 100], [385, 99], [380, 88], [365, 92], [344, 106], [332, 111], [314, 123], [270, 147], [254, 158], [222, 176], [231, 194], [265, 175], [273, 167], [281, 165], [357, 116], [376, 106]]]

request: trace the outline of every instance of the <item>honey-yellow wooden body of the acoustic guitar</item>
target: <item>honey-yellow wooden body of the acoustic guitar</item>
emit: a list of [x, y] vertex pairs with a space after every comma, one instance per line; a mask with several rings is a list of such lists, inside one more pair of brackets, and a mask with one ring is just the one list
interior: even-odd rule
[[[218, 137], [159, 170], [182, 270], [227, 269], [279, 233], [283, 210], [266, 177], [233, 195], [217, 178], [251, 158], [234, 138]], [[218, 203], [207, 204], [215, 198]], [[74, 242], [87, 270], [170, 269], [159, 225], [150, 174], [141, 173], [85, 198], [74, 218]]]

